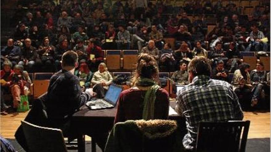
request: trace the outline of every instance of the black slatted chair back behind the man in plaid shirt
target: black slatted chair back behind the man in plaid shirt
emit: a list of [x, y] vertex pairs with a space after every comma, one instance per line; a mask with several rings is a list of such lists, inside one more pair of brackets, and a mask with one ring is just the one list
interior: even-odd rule
[[196, 152], [245, 152], [249, 125], [249, 120], [201, 122], [198, 127]]

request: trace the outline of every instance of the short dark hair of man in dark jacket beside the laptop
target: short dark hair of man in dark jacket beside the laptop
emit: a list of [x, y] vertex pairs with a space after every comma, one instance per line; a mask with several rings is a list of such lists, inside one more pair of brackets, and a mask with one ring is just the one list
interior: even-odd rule
[[62, 66], [75, 66], [78, 62], [78, 55], [74, 51], [67, 51], [62, 55]]

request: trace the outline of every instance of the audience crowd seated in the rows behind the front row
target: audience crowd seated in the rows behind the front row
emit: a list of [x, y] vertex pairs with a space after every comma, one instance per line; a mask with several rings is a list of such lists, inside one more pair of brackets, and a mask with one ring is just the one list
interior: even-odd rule
[[[270, 52], [269, 4], [262, 4], [264, 10], [257, 6], [247, 15], [234, 4], [213, 5], [210, 1], [193, 1], [183, 7], [160, 1], [143, 7], [134, 1], [103, 4], [87, 0], [18, 1], [11, 19], [16, 29], [1, 49], [1, 66], [8, 59], [12, 67], [19, 64], [28, 72], [57, 72], [62, 54], [74, 50], [79, 63], [87, 65], [88, 75], [99, 71], [103, 49], [138, 49], [154, 56], [159, 70], [166, 72], [180, 70], [181, 60], [208, 57], [212, 77], [230, 81], [228, 74], [242, 64], [241, 51]], [[207, 31], [208, 17], [215, 18], [211, 31]], [[166, 37], [173, 37], [174, 44], [166, 42]]]

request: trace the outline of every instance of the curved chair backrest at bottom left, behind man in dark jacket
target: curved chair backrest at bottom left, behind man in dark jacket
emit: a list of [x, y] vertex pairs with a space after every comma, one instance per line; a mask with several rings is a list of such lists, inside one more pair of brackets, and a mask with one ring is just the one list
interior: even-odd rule
[[67, 152], [62, 131], [21, 121], [29, 152]]

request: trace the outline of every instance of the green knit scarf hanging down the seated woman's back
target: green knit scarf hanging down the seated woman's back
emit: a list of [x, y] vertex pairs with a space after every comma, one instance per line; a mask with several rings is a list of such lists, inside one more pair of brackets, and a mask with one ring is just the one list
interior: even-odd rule
[[138, 78], [136, 80], [136, 86], [141, 87], [149, 87], [144, 97], [144, 107], [143, 107], [143, 115], [142, 119], [149, 120], [154, 119], [154, 102], [156, 99], [156, 91], [160, 89], [160, 86], [156, 84], [156, 82], [152, 79], [148, 78]]

